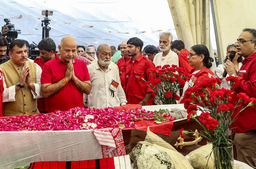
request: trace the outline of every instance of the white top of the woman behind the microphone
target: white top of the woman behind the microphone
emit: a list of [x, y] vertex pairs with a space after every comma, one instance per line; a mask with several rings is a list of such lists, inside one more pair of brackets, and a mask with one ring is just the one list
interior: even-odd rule
[[[239, 62], [238, 69], [236, 69], [236, 71], [239, 71], [242, 65], [243, 64]], [[225, 70], [224, 65], [218, 65], [218, 67], [214, 71], [214, 77], [219, 78], [221, 80], [220, 88], [230, 89], [230, 82], [226, 80], [226, 78], [229, 77], [230, 75], [227, 74], [226, 77], [223, 77], [222, 75], [224, 70]], [[232, 75], [232, 76], [235, 76], [235, 75]]]

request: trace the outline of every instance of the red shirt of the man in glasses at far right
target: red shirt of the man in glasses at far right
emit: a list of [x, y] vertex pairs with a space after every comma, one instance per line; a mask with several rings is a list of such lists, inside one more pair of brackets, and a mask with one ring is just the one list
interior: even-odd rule
[[[239, 98], [236, 97], [237, 93], [246, 93], [249, 97], [256, 97], [256, 53], [250, 55], [243, 60], [243, 66], [240, 68], [238, 74], [242, 74], [243, 77], [239, 77], [239, 81], [233, 86], [235, 92], [231, 96], [231, 102], [233, 105], [238, 103]], [[236, 108], [233, 118], [240, 111], [241, 106]], [[252, 129], [256, 129], [256, 110], [248, 107], [241, 112], [231, 128], [236, 133], [247, 132]]]

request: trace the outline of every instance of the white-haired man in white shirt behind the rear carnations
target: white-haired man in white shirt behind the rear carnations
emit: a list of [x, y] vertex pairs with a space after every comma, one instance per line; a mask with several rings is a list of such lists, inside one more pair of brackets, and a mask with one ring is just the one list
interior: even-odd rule
[[159, 47], [162, 52], [155, 55], [153, 60], [155, 66], [179, 66], [179, 57], [175, 52], [171, 50], [171, 46], [172, 34], [170, 32], [162, 32], [159, 36]]

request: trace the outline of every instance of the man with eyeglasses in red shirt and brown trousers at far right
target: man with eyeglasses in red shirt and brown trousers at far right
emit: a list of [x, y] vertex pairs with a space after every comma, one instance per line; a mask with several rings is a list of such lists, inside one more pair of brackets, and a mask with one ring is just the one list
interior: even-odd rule
[[[232, 104], [239, 101], [237, 93], [246, 93], [249, 97], [256, 98], [256, 29], [243, 29], [239, 35], [236, 48], [238, 54], [243, 56], [243, 66], [236, 72], [234, 64], [227, 60], [225, 69], [229, 75], [238, 76], [239, 80], [233, 86], [235, 90], [232, 97]], [[238, 107], [233, 118], [240, 111]], [[235, 144], [237, 160], [247, 163], [256, 169], [256, 109], [247, 107], [242, 111], [231, 126], [235, 132]]]

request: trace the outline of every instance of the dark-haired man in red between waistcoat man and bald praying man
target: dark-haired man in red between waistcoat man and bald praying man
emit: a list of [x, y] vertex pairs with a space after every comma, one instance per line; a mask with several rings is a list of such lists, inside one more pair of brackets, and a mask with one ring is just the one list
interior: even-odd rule
[[[41, 67], [41, 69], [43, 69], [44, 63], [54, 59], [55, 57], [58, 57], [58, 54], [55, 53], [56, 45], [54, 41], [49, 37], [42, 39], [38, 43], [38, 49], [39, 49], [40, 55], [39, 57], [35, 58], [34, 63], [37, 63]], [[46, 108], [47, 99], [39, 98], [37, 102], [38, 102], [39, 112], [47, 113], [47, 108]]]

